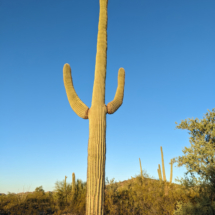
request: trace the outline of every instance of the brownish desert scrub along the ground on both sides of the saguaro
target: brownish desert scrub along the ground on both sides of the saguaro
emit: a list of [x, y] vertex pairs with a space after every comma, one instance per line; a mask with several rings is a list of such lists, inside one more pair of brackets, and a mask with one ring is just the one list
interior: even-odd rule
[[[84, 215], [86, 186], [86, 183], [77, 180], [73, 192], [72, 185], [65, 184], [63, 180], [56, 182], [54, 192], [44, 192], [42, 187], [37, 187], [32, 193], [1, 195], [0, 214]], [[182, 207], [182, 204], [197, 207], [198, 211], [201, 211], [203, 206], [199, 204], [202, 201], [199, 192], [197, 188], [188, 189], [182, 185], [151, 179], [146, 174], [144, 177], [138, 175], [122, 182], [114, 182], [114, 179], [106, 180], [104, 214], [183, 215], [186, 213], [175, 212], [177, 207]], [[204, 206], [207, 207], [214, 210], [214, 202]]]

